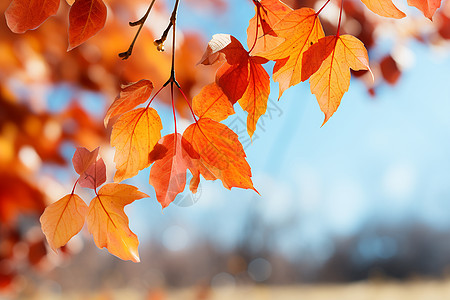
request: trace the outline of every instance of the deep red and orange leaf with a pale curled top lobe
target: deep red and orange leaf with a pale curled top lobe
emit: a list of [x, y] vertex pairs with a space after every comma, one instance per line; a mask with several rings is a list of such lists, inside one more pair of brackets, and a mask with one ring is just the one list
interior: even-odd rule
[[[210, 47], [214, 45], [214, 47]], [[216, 82], [232, 104], [239, 101], [247, 113], [247, 132], [251, 137], [256, 123], [266, 112], [270, 94], [270, 79], [262, 64], [267, 60], [250, 56], [242, 44], [228, 34], [213, 36], [201, 62], [211, 64], [219, 60], [216, 54], [223, 54], [226, 62], [217, 70]]]

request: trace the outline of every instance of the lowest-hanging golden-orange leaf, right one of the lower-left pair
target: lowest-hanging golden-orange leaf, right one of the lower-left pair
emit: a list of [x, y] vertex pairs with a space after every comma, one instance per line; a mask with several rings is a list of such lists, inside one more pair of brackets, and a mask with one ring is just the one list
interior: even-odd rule
[[124, 207], [148, 195], [127, 184], [105, 184], [89, 204], [86, 218], [89, 232], [100, 249], [123, 259], [139, 262], [137, 236], [128, 227]]

